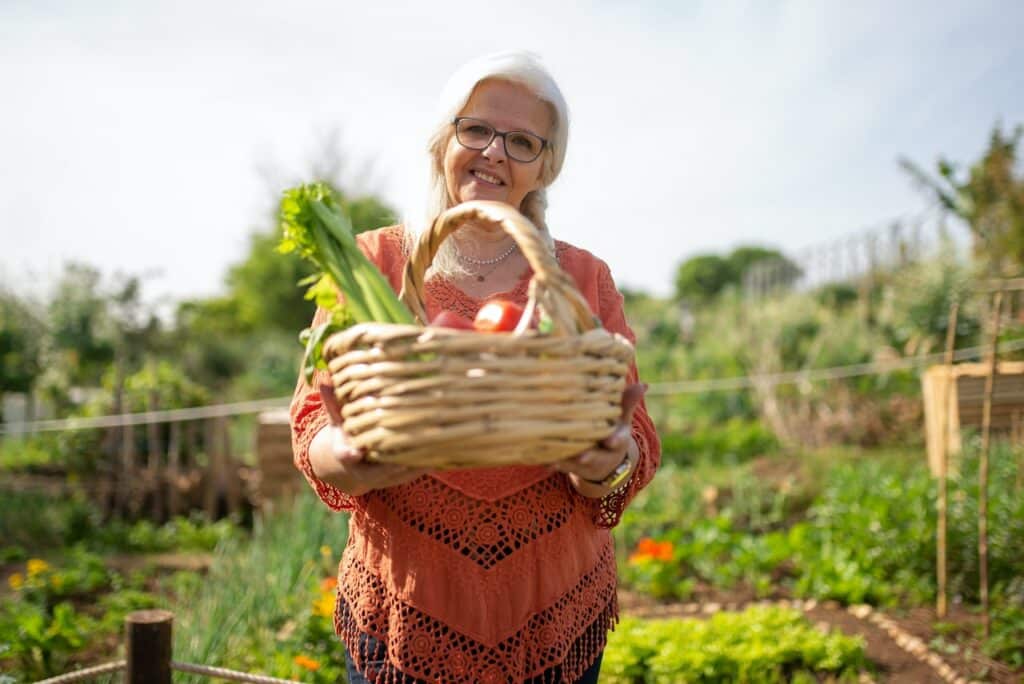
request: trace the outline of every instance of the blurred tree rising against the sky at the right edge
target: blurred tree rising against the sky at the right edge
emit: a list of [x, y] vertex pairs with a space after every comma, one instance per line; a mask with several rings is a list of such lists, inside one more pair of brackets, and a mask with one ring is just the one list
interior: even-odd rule
[[933, 178], [913, 162], [902, 167], [940, 205], [967, 223], [975, 255], [996, 275], [1018, 274], [1024, 267], [1024, 173], [1017, 148], [1024, 128], [1004, 133], [996, 124], [988, 149], [962, 177], [952, 162], [940, 158]]

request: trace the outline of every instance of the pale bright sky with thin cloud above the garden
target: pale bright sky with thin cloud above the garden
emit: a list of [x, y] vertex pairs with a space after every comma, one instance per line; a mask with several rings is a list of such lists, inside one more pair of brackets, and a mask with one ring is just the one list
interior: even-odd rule
[[665, 295], [689, 256], [922, 212], [898, 160], [1024, 123], [1022, 33], [1013, 0], [0, 0], [0, 286], [76, 260], [215, 295], [325, 151], [416, 211], [445, 80], [520, 48], [570, 110], [552, 232]]

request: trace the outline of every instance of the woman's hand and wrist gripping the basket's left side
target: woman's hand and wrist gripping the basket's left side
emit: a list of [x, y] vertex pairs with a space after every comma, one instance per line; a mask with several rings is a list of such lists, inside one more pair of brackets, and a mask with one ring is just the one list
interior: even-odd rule
[[368, 462], [364, 454], [345, 439], [341, 430], [341, 407], [334, 391], [322, 385], [319, 392], [331, 424], [309, 442], [309, 464], [316, 477], [349, 496], [358, 497], [373, 489], [404, 484], [430, 472], [428, 468]]

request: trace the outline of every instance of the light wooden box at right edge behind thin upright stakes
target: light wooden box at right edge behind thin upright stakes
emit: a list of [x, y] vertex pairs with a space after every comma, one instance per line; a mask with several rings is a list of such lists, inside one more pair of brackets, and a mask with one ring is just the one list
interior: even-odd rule
[[[1024, 361], [1000, 361], [992, 384], [991, 428], [993, 432], [1015, 432], [1024, 416]], [[942, 433], [946, 430], [949, 454], [961, 452], [961, 429], [981, 427], [982, 404], [985, 398], [985, 376], [988, 364], [956, 364], [933, 366], [922, 378], [925, 399], [925, 439], [928, 446], [928, 467], [939, 474], [942, 458]], [[950, 382], [952, 378], [952, 382]], [[946, 411], [945, 392], [949, 387]], [[954, 461], [950, 468], [955, 469]]]

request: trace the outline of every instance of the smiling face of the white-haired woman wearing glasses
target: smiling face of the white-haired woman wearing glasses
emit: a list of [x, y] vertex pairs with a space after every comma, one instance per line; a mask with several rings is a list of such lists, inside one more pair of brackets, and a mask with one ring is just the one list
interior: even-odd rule
[[[551, 133], [548, 105], [520, 85], [483, 81], [473, 90], [460, 117], [486, 122], [499, 131], [526, 131], [547, 138]], [[495, 200], [519, 209], [523, 198], [541, 187], [545, 155], [529, 163], [509, 159], [502, 137], [483, 149], [469, 149], [454, 130], [444, 151], [444, 182], [453, 204]]]

